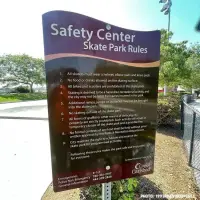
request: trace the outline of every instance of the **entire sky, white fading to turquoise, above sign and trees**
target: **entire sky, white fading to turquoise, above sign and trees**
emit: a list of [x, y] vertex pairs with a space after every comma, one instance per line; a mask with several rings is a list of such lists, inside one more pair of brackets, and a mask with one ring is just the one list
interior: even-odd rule
[[[172, 0], [173, 42], [200, 41], [195, 25], [200, 19], [199, 0]], [[0, 55], [28, 54], [44, 57], [42, 14], [65, 10], [84, 14], [133, 30], [167, 29], [168, 16], [159, 0], [5, 0], [0, 12]]]

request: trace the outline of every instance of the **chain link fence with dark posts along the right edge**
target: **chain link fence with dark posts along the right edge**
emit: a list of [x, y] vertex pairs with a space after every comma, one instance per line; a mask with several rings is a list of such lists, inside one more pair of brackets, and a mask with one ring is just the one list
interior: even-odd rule
[[194, 101], [191, 95], [185, 95], [181, 105], [181, 128], [184, 131], [183, 140], [188, 153], [188, 163], [194, 169], [195, 179], [200, 188], [200, 112], [190, 103]]

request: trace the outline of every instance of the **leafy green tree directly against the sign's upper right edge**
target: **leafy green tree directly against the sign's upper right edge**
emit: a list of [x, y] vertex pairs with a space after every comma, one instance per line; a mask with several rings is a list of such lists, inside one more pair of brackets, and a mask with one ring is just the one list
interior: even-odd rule
[[160, 68], [160, 85], [175, 87], [180, 84], [182, 79], [189, 76], [185, 62], [190, 56], [187, 49], [187, 41], [172, 43], [168, 40], [172, 38], [173, 33], [167, 33], [161, 30], [161, 68]]

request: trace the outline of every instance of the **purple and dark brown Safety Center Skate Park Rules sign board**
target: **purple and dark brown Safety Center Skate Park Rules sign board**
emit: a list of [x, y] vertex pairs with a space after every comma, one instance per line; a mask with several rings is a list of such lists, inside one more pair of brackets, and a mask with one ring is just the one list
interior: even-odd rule
[[160, 32], [43, 15], [54, 191], [153, 172]]

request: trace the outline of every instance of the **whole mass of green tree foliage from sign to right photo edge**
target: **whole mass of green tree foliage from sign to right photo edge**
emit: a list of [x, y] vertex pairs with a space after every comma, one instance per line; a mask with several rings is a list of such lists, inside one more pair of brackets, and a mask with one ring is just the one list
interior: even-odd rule
[[200, 88], [200, 44], [172, 43], [173, 33], [161, 30], [160, 86]]

